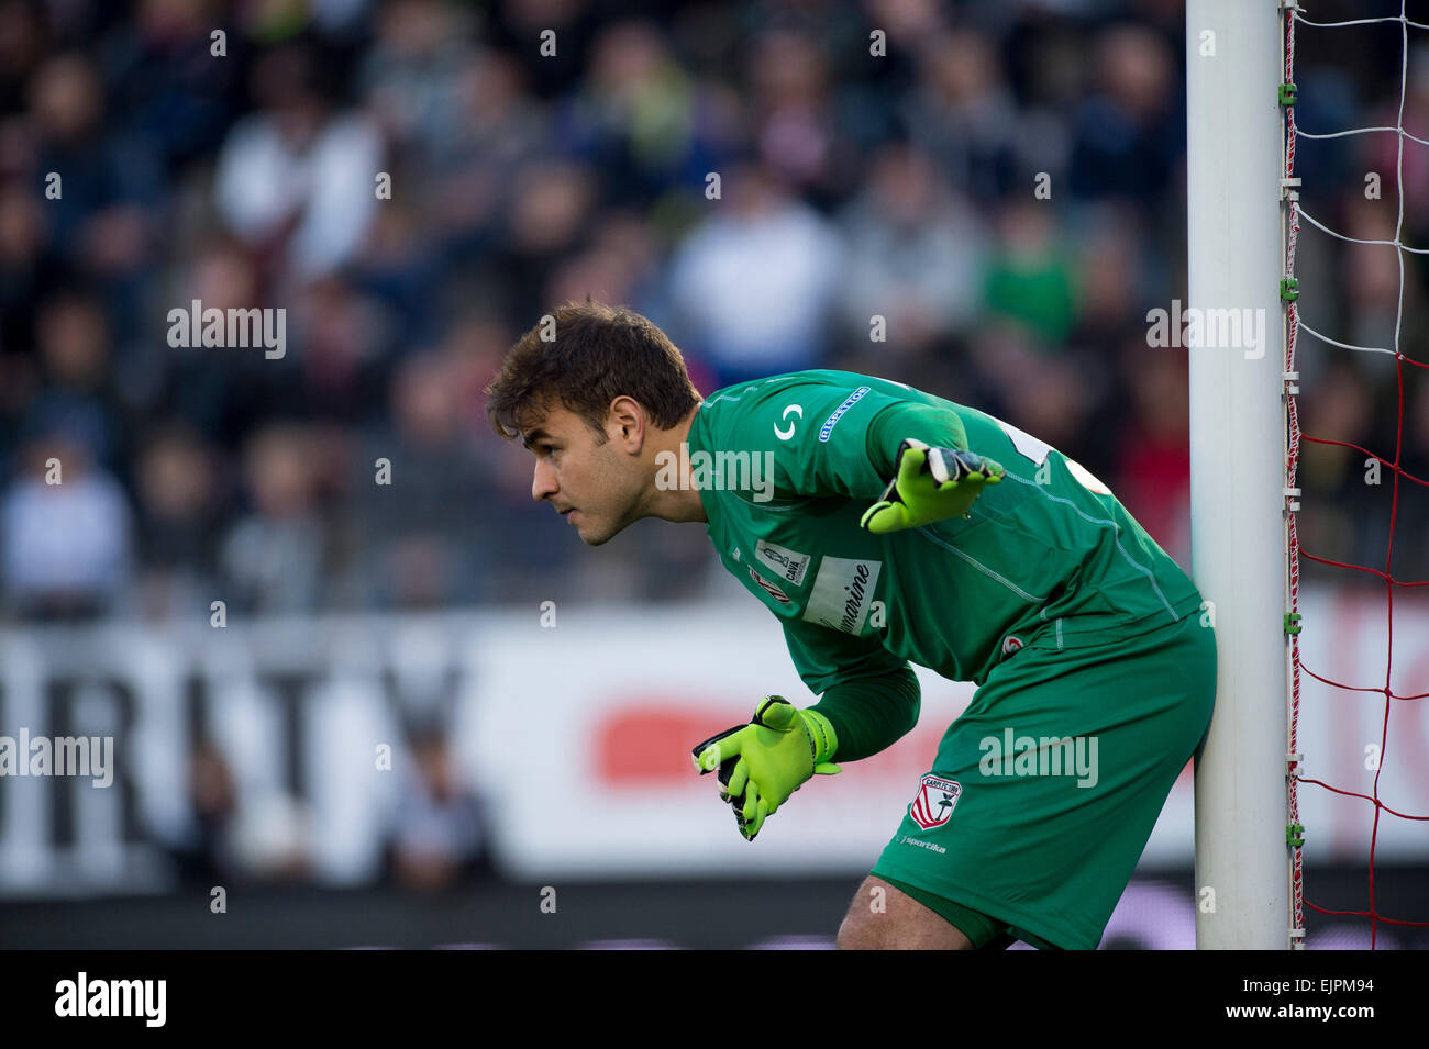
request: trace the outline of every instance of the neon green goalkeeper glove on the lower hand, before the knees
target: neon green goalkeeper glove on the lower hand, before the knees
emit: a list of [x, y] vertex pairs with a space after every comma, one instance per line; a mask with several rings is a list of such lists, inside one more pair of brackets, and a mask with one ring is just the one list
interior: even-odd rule
[[840, 771], [829, 762], [837, 745], [822, 714], [800, 711], [782, 695], [770, 695], [747, 725], [710, 736], [692, 755], [700, 775], [719, 769], [720, 796], [735, 808], [739, 832], [755, 841], [765, 819], [806, 779]]

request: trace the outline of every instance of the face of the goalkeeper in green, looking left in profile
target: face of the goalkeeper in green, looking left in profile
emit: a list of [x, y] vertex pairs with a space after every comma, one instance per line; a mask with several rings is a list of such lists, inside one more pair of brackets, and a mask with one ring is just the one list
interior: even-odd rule
[[596, 431], [580, 415], [556, 407], [522, 438], [536, 454], [532, 498], [547, 500], [587, 545], [599, 547], [639, 520], [640, 458], [620, 438], [619, 427], [597, 444]]

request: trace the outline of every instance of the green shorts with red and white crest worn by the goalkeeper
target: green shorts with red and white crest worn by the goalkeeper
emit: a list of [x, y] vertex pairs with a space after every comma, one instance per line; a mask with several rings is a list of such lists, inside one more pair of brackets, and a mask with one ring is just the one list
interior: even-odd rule
[[1216, 641], [1039, 631], [943, 734], [872, 873], [975, 948], [1093, 949], [1210, 726]]

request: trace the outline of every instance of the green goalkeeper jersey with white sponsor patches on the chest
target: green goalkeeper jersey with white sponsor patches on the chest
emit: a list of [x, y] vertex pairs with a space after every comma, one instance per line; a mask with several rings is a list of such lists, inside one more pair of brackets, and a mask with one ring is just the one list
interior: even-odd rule
[[[907, 437], [1007, 474], [967, 518], [872, 535], [859, 518]], [[1202, 604], [1079, 464], [902, 382], [800, 371], [727, 387], [700, 404], [686, 451], [722, 562], [779, 617], [815, 694], [907, 661], [982, 685], [1033, 639], [1135, 635]]]

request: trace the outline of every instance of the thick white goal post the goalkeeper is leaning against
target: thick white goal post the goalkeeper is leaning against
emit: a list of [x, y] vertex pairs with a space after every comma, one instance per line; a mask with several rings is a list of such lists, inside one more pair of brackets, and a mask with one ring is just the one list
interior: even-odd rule
[[1219, 649], [1196, 772], [1199, 949], [1283, 951], [1292, 939], [1282, 19], [1278, 0], [1186, 6], [1187, 313], [1263, 311], [1243, 315], [1263, 318], [1265, 333], [1259, 348], [1189, 348], [1192, 574]]

